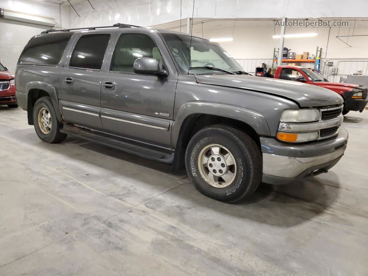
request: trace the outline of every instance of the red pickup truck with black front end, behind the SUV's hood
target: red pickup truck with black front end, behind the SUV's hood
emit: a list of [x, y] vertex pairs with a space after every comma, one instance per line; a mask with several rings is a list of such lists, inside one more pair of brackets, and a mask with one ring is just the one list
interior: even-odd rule
[[335, 91], [344, 98], [344, 115], [351, 110], [362, 112], [368, 102], [367, 88], [364, 88], [362, 85], [329, 82], [309, 68], [301, 66], [278, 66], [273, 78], [304, 82]]

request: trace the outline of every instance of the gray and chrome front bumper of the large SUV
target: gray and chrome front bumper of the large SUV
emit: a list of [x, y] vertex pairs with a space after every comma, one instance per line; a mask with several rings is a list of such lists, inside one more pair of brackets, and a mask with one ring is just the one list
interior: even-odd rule
[[262, 182], [286, 184], [327, 172], [344, 155], [347, 141], [348, 133], [343, 127], [335, 137], [304, 145], [290, 145], [261, 137]]

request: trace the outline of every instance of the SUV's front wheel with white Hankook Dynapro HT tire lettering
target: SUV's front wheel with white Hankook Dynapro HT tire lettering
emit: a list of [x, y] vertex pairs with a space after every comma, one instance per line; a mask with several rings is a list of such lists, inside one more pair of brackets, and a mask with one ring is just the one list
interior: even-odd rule
[[255, 141], [226, 125], [198, 131], [188, 144], [185, 165], [197, 190], [228, 203], [249, 197], [262, 180], [262, 155]]

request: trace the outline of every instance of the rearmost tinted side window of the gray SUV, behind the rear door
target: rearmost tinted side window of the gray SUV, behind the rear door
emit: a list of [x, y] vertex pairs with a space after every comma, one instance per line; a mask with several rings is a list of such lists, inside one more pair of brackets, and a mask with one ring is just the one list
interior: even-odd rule
[[57, 65], [73, 33], [37, 35], [24, 47], [18, 64]]

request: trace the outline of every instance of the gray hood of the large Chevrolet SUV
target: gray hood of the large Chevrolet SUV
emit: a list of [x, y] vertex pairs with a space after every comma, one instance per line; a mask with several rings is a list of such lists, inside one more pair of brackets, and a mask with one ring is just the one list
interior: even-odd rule
[[297, 102], [301, 107], [343, 103], [337, 93], [316, 85], [250, 75], [195, 75], [201, 84], [218, 85], [268, 93]]

